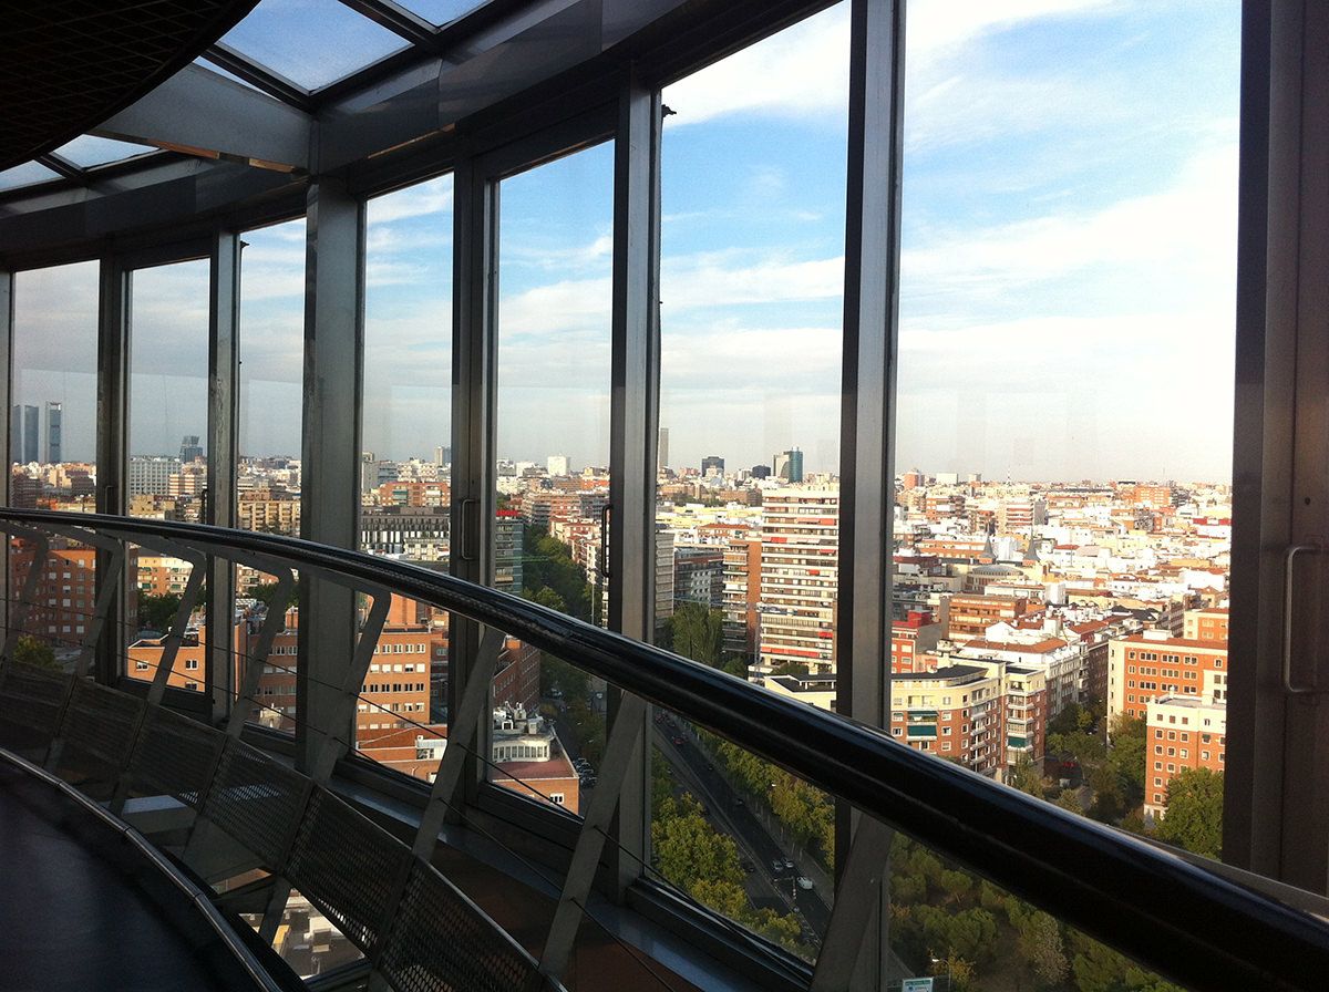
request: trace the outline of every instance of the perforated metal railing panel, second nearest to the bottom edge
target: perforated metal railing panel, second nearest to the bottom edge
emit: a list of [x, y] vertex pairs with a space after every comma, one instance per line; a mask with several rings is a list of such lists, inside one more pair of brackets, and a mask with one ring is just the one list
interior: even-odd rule
[[315, 787], [287, 878], [338, 930], [369, 953], [411, 865], [409, 849], [342, 799]]

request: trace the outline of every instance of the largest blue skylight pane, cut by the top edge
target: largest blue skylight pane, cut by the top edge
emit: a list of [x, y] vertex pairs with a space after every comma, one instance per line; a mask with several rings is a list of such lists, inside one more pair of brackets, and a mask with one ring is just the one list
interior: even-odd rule
[[336, 0], [260, 0], [222, 44], [306, 89], [319, 89], [409, 42]]

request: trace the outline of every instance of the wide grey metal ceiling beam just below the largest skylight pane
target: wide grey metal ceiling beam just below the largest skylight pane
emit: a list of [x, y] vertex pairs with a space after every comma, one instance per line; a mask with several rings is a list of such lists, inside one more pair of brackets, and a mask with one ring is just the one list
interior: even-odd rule
[[203, 158], [304, 171], [310, 165], [312, 118], [189, 65], [92, 133]]

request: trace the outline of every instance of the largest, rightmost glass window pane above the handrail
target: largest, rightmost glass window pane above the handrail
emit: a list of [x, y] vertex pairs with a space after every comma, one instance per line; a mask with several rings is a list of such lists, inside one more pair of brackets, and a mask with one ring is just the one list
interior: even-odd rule
[[938, 665], [1041, 677], [991, 774], [1160, 838], [1146, 741], [1224, 705], [1164, 665], [1228, 595], [1239, 49], [1235, 0], [906, 33], [896, 551], [941, 560], [894, 595], [945, 600]]

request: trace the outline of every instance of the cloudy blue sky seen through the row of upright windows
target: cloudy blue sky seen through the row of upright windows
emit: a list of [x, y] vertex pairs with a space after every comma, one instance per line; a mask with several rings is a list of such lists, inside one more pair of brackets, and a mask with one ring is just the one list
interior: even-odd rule
[[[1235, 0], [910, 4], [897, 467], [1228, 477], [1237, 40]], [[847, 52], [841, 4], [666, 90], [675, 465], [799, 445], [836, 467]], [[502, 185], [502, 455], [607, 455], [610, 166], [602, 146]], [[451, 207], [448, 177], [371, 202], [364, 446], [385, 457], [448, 444]], [[243, 446], [296, 453], [303, 226], [246, 240]], [[86, 301], [40, 305], [40, 282], [20, 276], [20, 360], [25, 324]], [[206, 295], [159, 283], [136, 303], [145, 376], [197, 368]], [[165, 392], [141, 430], [171, 450], [205, 393]]]

